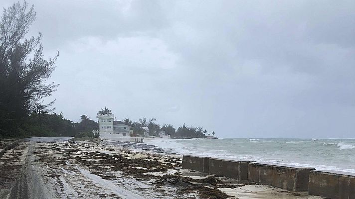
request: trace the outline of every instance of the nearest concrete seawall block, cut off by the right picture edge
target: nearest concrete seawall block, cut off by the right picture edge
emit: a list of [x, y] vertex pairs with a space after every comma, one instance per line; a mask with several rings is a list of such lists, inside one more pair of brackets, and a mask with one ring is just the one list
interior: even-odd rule
[[308, 193], [332, 199], [355, 199], [355, 176], [345, 172], [311, 171]]

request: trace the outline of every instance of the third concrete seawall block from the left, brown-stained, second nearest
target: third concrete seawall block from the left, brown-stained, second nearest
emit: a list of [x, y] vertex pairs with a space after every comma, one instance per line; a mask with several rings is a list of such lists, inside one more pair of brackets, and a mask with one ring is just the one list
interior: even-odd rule
[[293, 192], [308, 191], [310, 171], [314, 168], [249, 163], [248, 181]]

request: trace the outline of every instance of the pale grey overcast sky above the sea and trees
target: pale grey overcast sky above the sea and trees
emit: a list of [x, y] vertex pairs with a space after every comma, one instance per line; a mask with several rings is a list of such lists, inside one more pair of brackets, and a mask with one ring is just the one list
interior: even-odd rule
[[218, 137], [355, 137], [354, 0], [28, 3], [68, 119], [106, 106]]

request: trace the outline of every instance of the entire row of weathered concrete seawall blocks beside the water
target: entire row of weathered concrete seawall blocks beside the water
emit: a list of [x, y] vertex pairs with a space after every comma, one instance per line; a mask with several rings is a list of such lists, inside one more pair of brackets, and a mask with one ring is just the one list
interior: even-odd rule
[[316, 171], [314, 168], [182, 156], [182, 168], [270, 185], [292, 192], [332, 199], [355, 199], [355, 174]]

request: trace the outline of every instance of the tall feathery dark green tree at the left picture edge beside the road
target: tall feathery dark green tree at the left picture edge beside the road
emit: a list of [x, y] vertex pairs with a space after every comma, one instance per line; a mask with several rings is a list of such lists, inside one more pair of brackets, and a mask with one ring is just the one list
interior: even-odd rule
[[[25, 37], [35, 20], [33, 6], [19, 2], [3, 10], [0, 20], [0, 135], [43, 135], [46, 128], [32, 124], [32, 112], [45, 114], [53, 104], [42, 104], [58, 85], [47, 84], [57, 58], [43, 59], [42, 34]], [[33, 56], [30, 58], [29, 56]], [[27, 122], [27, 123], [26, 123]], [[40, 122], [42, 125], [42, 122]], [[44, 125], [44, 124], [43, 124]], [[17, 129], [14, 127], [17, 127]]]

